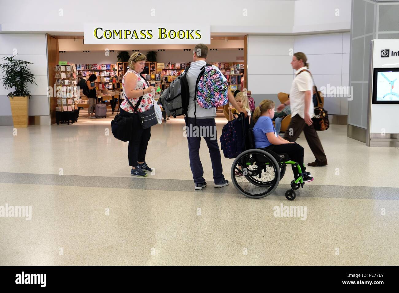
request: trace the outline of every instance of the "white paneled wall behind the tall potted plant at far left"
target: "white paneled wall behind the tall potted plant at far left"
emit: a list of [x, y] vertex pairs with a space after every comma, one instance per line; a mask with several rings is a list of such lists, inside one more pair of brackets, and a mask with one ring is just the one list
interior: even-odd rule
[[[29, 116], [48, 116], [45, 119], [41, 118], [41, 121], [49, 124], [46, 36], [42, 34], [0, 34], [0, 57], [10, 57], [13, 55], [14, 50], [18, 53], [18, 59], [34, 62], [30, 66], [30, 69], [36, 77], [35, 81], [37, 85], [28, 85], [28, 89], [32, 95], [29, 102]], [[4, 60], [0, 62], [3, 63]], [[0, 73], [0, 79], [2, 77], [3, 75]], [[10, 102], [7, 97], [7, 94], [11, 91], [11, 89], [7, 90], [4, 88], [2, 83], [0, 83], [0, 118], [1, 116], [12, 115]]]

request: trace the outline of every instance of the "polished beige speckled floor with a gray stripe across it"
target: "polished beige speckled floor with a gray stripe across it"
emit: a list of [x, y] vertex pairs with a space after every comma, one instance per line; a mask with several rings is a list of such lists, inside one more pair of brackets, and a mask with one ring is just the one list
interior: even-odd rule
[[[109, 112], [109, 114], [111, 114]], [[294, 201], [275, 193], [248, 199], [232, 184], [194, 191], [184, 120], [154, 126], [146, 161], [155, 171], [131, 178], [127, 143], [111, 118], [71, 125], [0, 126], [2, 206], [32, 206], [31, 219], [0, 217], [0, 265], [398, 265], [399, 149], [367, 147], [346, 126], [318, 132], [328, 166]], [[225, 124], [217, 118], [218, 136]], [[302, 134], [305, 162], [314, 160]], [[222, 154], [231, 181], [232, 159]], [[301, 216], [276, 216], [276, 206]]]

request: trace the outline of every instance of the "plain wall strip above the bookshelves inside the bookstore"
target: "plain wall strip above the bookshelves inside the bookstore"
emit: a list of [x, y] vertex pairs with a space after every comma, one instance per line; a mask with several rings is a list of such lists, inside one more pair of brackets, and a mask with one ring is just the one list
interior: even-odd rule
[[[147, 51], [141, 51], [146, 54]], [[133, 52], [129, 52], [131, 55]], [[193, 51], [170, 50], [170, 51], [156, 51], [157, 62], [190, 62], [192, 61]], [[59, 53], [60, 61], [68, 61], [69, 63], [117, 63], [118, 53], [109, 52], [109, 56], [105, 56], [103, 51], [67, 51], [66, 53]], [[239, 62], [237, 57], [244, 57], [244, 51], [238, 49], [231, 50], [217, 50], [208, 51], [208, 62]]]

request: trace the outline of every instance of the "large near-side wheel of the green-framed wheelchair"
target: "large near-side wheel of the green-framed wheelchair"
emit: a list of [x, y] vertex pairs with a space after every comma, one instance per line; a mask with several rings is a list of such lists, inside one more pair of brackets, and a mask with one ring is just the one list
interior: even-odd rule
[[[242, 172], [243, 177], [236, 176], [235, 171]], [[231, 180], [242, 195], [259, 199], [275, 191], [280, 172], [276, 159], [267, 151], [249, 149], [235, 158], [231, 166]]]

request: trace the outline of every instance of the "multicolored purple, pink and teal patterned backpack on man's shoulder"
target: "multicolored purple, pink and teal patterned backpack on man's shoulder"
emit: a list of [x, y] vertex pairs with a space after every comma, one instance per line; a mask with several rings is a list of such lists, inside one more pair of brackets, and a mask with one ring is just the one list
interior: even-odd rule
[[223, 81], [222, 74], [210, 64], [201, 68], [196, 83], [196, 100], [201, 108], [217, 108], [229, 102], [229, 83]]

